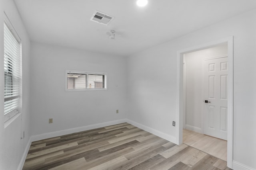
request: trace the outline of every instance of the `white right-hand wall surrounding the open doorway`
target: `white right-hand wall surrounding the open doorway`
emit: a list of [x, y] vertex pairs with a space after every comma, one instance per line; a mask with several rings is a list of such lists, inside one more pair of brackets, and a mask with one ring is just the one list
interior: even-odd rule
[[255, 20], [252, 10], [130, 56], [128, 119], [175, 137], [177, 51], [234, 35], [234, 161], [256, 169]]

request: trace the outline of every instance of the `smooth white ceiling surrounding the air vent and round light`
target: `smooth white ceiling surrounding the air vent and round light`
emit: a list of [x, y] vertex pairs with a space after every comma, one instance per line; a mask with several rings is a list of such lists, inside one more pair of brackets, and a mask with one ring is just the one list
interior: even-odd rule
[[[31, 41], [129, 56], [256, 8], [256, 0], [14, 0]], [[95, 10], [115, 19], [90, 21]], [[106, 32], [116, 30], [116, 39]]]

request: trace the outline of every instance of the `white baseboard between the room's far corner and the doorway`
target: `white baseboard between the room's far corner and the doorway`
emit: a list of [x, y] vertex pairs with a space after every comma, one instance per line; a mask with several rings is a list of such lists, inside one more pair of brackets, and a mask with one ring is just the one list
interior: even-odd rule
[[151, 127], [142, 125], [142, 124], [137, 123], [137, 122], [135, 122], [135, 121], [132, 121], [132, 120], [130, 120], [130, 119], [126, 119], [126, 122], [127, 122], [127, 123], [130, 123], [131, 125], [134, 125], [134, 126], [140, 128], [140, 129], [143, 129], [144, 131], [147, 131], [147, 132], [149, 132], [149, 133], [152, 133], [152, 134], [154, 134], [154, 135], [156, 135], [156, 136], [158, 136], [158, 137], [161, 137], [161, 138], [163, 138], [163, 139], [166, 139], [167, 141], [170, 141], [170, 142], [172, 142], [172, 143], [176, 143], [176, 137], [174, 137], [174, 136], [168, 135], [168, 134], [166, 134], [166, 133], [163, 133], [163, 132], [158, 131], [158, 130], [156, 130], [156, 129], [153, 129], [153, 128], [151, 128]]

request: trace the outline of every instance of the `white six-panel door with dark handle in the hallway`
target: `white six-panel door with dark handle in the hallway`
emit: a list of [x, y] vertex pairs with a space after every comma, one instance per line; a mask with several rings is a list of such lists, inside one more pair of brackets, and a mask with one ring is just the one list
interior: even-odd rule
[[203, 68], [204, 134], [227, 140], [228, 57], [205, 59]]

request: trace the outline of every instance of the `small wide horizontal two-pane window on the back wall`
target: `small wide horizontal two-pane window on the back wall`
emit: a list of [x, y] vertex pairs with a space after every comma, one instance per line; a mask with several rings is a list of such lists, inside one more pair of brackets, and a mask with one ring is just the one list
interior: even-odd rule
[[66, 91], [106, 90], [107, 73], [66, 70]]

